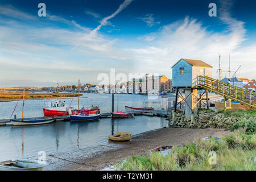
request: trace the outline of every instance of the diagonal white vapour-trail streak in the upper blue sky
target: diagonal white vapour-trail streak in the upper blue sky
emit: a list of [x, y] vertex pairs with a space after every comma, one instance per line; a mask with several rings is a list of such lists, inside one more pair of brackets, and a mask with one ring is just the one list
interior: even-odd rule
[[114, 18], [118, 13], [120, 13], [122, 10], [126, 9], [126, 7], [128, 5], [130, 5], [130, 3], [132, 2], [133, 0], [125, 0], [119, 7], [118, 9], [112, 14], [112, 15], [109, 15], [109, 16], [106, 16], [105, 18], [103, 18], [101, 20], [101, 24], [99, 26], [97, 26], [97, 28], [95, 28], [93, 31], [92, 31], [92, 35], [95, 35], [96, 32], [98, 30], [101, 29], [102, 26], [105, 26], [106, 24], [109, 24], [108, 20]]

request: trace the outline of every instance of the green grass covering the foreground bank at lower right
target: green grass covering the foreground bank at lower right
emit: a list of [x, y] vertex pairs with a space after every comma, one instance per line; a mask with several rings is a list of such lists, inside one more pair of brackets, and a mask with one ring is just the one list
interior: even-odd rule
[[[198, 139], [182, 147], [175, 147], [171, 154], [162, 156], [151, 153], [149, 156], [133, 156], [118, 164], [122, 170], [170, 171], [170, 170], [256, 170], [256, 135], [246, 135], [236, 131], [221, 140]], [[216, 164], [210, 151], [216, 152]], [[214, 153], [213, 152], [213, 153]], [[213, 154], [212, 153], [212, 154]]]

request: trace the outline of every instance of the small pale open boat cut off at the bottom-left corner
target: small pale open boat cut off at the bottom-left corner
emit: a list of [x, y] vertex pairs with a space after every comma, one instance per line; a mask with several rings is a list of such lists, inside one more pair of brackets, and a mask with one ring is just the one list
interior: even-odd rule
[[0, 162], [0, 171], [42, 171], [46, 164], [38, 163], [38, 160], [13, 159]]

